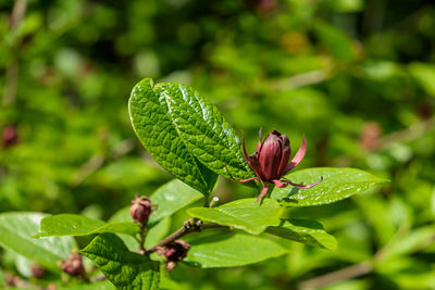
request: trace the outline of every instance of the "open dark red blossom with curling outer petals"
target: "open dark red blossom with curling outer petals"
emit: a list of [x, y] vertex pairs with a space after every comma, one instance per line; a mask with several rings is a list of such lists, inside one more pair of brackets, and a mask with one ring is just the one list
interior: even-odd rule
[[250, 155], [248, 155], [246, 152], [245, 138], [243, 139], [245, 160], [248, 162], [256, 176], [245, 180], [236, 180], [228, 172], [229, 177], [234, 181], [248, 182], [251, 180], [259, 180], [263, 184], [263, 189], [261, 190], [260, 196], [257, 198], [257, 201], [261, 200], [273, 185], [279, 188], [285, 188], [291, 185], [297, 188], [307, 189], [320, 184], [323, 180], [323, 178], [321, 178], [311, 185], [298, 185], [287, 179], [279, 180], [284, 175], [298, 165], [306, 155], [307, 143], [304, 137], [302, 137], [302, 144], [290, 162], [288, 162], [291, 153], [290, 141], [286, 135], [282, 135], [278, 131], [273, 130], [272, 133], [268, 134], [264, 142], [262, 142], [260, 130], [259, 138], [260, 141], [257, 146], [256, 152]]

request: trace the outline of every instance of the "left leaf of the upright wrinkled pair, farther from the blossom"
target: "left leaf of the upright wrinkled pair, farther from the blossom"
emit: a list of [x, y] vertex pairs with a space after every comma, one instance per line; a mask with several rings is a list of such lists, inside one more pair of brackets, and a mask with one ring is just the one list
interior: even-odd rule
[[133, 128], [147, 151], [179, 180], [208, 194], [216, 175], [186, 148], [170, 115], [167, 100], [150, 78], [139, 81], [128, 102]]

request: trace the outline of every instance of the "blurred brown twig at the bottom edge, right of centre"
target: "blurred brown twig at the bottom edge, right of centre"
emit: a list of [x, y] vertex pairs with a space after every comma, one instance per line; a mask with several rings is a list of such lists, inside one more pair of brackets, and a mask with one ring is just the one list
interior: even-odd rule
[[373, 269], [369, 262], [362, 262], [359, 264], [351, 265], [349, 267], [306, 280], [299, 285], [299, 289], [319, 289], [336, 281], [347, 280], [364, 274], [370, 273]]

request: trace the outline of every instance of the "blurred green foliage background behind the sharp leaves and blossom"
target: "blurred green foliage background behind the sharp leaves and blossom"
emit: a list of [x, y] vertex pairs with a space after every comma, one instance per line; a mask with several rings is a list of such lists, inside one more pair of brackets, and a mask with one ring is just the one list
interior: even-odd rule
[[[0, 0], [0, 212], [108, 218], [170, 180], [127, 100], [141, 78], [179, 81], [251, 150], [260, 127], [296, 148], [304, 134], [299, 168], [391, 180], [288, 212], [319, 219], [336, 252], [290, 242], [289, 255], [248, 267], [181, 265], [179, 287], [435, 289], [434, 62], [432, 0]], [[220, 179], [214, 194], [257, 192]]]

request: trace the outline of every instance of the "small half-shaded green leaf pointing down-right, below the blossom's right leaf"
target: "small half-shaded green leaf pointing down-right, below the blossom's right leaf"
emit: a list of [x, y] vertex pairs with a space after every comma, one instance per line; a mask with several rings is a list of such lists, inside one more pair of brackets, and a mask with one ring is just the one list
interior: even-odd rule
[[282, 219], [278, 226], [272, 226], [266, 232], [309, 245], [328, 250], [337, 248], [337, 241], [327, 234], [322, 224], [311, 219]]

